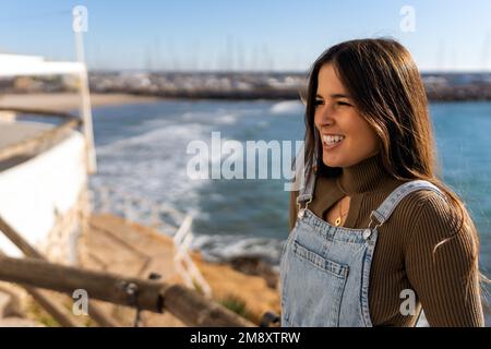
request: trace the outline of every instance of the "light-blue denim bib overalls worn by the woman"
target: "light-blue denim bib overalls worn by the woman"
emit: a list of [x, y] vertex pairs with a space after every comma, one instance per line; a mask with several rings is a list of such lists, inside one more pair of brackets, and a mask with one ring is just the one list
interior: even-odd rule
[[[308, 204], [315, 176], [300, 191], [301, 207], [280, 257], [282, 326], [372, 326], [369, 311], [370, 265], [378, 228], [409, 193], [432, 190], [432, 183], [415, 180], [395, 189], [370, 215], [366, 229], [335, 227], [315, 216]], [[378, 225], [371, 227], [372, 222]]]

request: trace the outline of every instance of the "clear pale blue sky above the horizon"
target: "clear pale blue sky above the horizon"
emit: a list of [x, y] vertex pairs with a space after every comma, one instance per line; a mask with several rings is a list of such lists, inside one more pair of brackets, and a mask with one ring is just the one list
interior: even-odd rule
[[92, 69], [304, 71], [333, 44], [392, 36], [421, 70], [491, 71], [490, 0], [0, 0], [0, 51], [74, 59], [76, 4]]

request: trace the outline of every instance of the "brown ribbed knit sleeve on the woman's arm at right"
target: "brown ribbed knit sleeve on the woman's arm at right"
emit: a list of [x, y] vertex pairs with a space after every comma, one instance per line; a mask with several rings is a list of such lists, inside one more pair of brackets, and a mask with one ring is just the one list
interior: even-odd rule
[[439, 194], [418, 195], [405, 268], [424, 315], [430, 326], [483, 326], [475, 237]]

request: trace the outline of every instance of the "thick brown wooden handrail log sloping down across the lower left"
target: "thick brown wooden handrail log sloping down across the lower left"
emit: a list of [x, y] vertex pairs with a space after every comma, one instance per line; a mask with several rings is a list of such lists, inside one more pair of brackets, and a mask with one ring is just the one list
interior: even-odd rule
[[0, 279], [69, 294], [84, 289], [92, 299], [157, 313], [166, 309], [190, 326], [254, 326], [181, 285], [8, 256], [0, 256]]

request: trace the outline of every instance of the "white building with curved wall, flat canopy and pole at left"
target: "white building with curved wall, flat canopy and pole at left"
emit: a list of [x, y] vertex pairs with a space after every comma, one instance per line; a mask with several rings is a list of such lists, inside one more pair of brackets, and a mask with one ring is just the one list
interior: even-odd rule
[[[89, 213], [88, 174], [96, 170], [87, 71], [79, 62], [0, 55], [0, 77], [72, 75], [79, 79], [79, 120], [65, 128], [21, 121], [0, 110], [0, 217], [50, 260], [74, 262], [76, 238]], [[25, 108], [29, 108], [28, 105]], [[56, 116], [56, 113], [53, 113]], [[80, 122], [80, 128], [68, 123]], [[0, 233], [0, 251], [22, 252]]]

